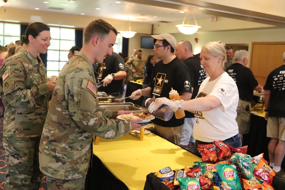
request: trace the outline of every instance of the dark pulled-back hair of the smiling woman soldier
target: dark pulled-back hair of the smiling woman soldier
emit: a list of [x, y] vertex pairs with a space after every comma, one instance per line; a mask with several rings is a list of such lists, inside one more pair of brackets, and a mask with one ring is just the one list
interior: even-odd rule
[[42, 32], [44, 30], [50, 31], [50, 27], [48, 27], [44, 23], [38, 23], [38, 22], [30, 24], [26, 30], [26, 34], [22, 35], [21, 42], [23, 44], [28, 45], [29, 44], [28, 37], [30, 35], [33, 36], [33, 38], [36, 38], [40, 34], [40, 32]]

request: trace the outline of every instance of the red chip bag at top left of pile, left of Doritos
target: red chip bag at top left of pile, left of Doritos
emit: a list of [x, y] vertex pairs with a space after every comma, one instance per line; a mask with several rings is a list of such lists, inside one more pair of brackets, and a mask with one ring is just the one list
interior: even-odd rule
[[198, 144], [197, 149], [202, 155], [203, 162], [218, 162], [217, 152], [213, 144]]

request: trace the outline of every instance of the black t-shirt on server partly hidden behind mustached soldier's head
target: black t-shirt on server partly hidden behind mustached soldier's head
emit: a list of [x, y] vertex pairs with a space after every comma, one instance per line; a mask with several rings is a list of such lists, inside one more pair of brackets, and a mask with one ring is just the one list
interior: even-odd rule
[[[96, 82], [101, 82], [107, 75], [117, 73], [118, 71], [127, 71], [125, 62], [122, 56], [113, 52], [111, 56], [108, 56], [103, 63], [99, 64], [96, 72], [99, 73]], [[123, 91], [123, 79], [112, 80], [110, 84], [103, 87], [101, 86], [98, 91], [105, 93], [115, 93]]]

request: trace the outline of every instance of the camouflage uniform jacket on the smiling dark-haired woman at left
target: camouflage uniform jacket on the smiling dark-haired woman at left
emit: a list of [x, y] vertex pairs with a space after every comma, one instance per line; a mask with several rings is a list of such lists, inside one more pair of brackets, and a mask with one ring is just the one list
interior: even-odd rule
[[51, 93], [40, 56], [21, 49], [0, 68], [0, 96], [5, 106], [4, 136], [41, 136]]

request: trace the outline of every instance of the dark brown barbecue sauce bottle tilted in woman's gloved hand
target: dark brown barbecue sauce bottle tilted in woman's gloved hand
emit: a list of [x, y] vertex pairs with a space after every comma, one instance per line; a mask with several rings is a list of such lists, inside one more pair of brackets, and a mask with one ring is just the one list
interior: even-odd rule
[[154, 98], [148, 98], [144, 103], [145, 107], [148, 109], [151, 115], [164, 121], [170, 120], [173, 116], [172, 109], [168, 105], [162, 105], [160, 108], [158, 108], [158, 110], [153, 111], [154, 101]]

